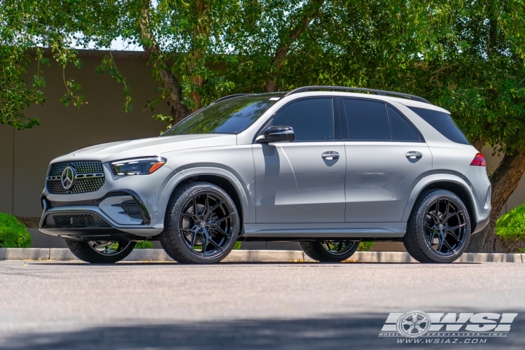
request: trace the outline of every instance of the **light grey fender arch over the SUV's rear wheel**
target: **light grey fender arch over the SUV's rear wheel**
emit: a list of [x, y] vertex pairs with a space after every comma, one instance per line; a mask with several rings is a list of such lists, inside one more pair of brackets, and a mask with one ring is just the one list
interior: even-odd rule
[[412, 190], [412, 193], [405, 207], [405, 213], [403, 214], [403, 222], [407, 222], [410, 214], [412, 214], [412, 208], [419, 197], [426, 193], [428, 190], [449, 190], [451, 193], [457, 195], [461, 201], [467, 207], [468, 215], [470, 216], [470, 225], [473, 229], [476, 225], [476, 202], [473, 200], [473, 193], [470, 190], [468, 183], [463, 179], [454, 175], [443, 176], [443, 174], [435, 174], [428, 176], [426, 179], [422, 179]]

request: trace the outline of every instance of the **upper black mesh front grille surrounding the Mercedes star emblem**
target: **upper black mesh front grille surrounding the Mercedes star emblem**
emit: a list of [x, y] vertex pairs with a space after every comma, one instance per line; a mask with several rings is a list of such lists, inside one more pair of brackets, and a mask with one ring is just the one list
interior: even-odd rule
[[[77, 175], [83, 174], [104, 174], [104, 167], [102, 162], [90, 160], [90, 161], [75, 161], [75, 162], [60, 162], [52, 164], [47, 180], [45, 181], [45, 187], [49, 193], [54, 195], [65, 195], [69, 193], [88, 193], [94, 192], [102, 188], [106, 183], [106, 178], [102, 177], [88, 177], [83, 179], [76, 179], [75, 185], [66, 190], [62, 186], [59, 176], [62, 175], [66, 167], [73, 167], [76, 170]], [[52, 179], [50, 179], [52, 178]], [[58, 179], [57, 179], [58, 178]]]

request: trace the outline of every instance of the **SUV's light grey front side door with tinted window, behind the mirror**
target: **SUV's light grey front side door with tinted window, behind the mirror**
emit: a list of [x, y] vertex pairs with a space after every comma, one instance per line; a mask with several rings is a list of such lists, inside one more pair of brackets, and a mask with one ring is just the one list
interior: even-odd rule
[[344, 223], [346, 155], [333, 102], [290, 102], [265, 129], [292, 127], [295, 141], [253, 145], [257, 223]]

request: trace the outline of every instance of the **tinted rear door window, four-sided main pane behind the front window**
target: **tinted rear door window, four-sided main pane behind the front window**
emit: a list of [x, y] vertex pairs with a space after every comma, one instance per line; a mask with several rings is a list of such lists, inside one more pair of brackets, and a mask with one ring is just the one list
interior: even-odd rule
[[381, 102], [343, 99], [351, 140], [391, 141], [386, 106]]

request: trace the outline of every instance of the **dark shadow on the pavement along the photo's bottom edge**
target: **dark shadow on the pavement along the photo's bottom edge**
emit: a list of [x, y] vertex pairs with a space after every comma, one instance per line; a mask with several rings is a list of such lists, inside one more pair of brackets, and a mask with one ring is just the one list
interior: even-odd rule
[[[327, 300], [329, 302], [329, 300]], [[461, 310], [467, 311], [467, 310]], [[0, 338], [0, 349], [524, 349], [525, 319], [512, 323], [508, 337], [486, 337], [484, 344], [400, 344], [400, 337], [379, 337], [387, 314], [352, 317], [261, 319], [122, 325], [73, 332], [35, 332]], [[481, 338], [481, 337], [478, 337]], [[458, 342], [465, 342], [465, 337]], [[423, 344], [421, 344], [423, 343]]]

